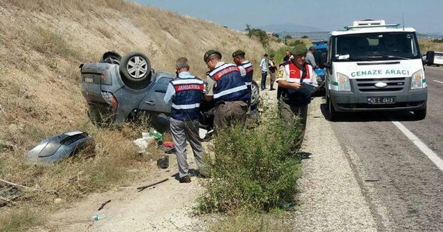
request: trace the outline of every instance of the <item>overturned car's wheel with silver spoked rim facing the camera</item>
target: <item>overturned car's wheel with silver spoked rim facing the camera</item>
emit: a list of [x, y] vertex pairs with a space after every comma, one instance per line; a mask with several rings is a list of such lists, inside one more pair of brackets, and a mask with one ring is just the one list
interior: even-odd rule
[[126, 80], [141, 82], [150, 77], [150, 59], [141, 52], [129, 52], [121, 59], [119, 70]]

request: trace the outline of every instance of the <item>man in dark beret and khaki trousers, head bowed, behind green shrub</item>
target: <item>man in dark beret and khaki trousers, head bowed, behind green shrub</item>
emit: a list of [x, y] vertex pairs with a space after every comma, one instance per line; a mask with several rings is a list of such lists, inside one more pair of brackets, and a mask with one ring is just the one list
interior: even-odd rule
[[208, 101], [215, 103], [215, 128], [232, 126], [233, 123], [246, 122], [246, 111], [251, 94], [235, 64], [221, 61], [221, 53], [208, 50], [203, 57], [209, 68], [206, 77], [206, 95]]

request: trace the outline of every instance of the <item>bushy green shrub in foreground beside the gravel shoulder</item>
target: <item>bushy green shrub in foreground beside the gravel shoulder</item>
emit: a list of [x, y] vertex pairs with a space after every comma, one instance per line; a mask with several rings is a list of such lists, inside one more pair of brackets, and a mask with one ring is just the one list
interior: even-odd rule
[[300, 177], [292, 145], [298, 135], [298, 125], [283, 128], [275, 116], [252, 130], [234, 126], [219, 131], [214, 139], [213, 178], [204, 184], [206, 192], [199, 198], [198, 209], [208, 213], [287, 207]]

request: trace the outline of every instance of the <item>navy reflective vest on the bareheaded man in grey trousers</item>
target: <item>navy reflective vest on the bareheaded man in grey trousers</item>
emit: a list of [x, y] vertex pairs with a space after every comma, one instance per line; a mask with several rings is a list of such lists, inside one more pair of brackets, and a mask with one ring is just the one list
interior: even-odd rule
[[177, 120], [199, 119], [201, 97], [204, 81], [198, 77], [180, 78], [170, 81], [175, 90], [172, 100], [171, 117]]

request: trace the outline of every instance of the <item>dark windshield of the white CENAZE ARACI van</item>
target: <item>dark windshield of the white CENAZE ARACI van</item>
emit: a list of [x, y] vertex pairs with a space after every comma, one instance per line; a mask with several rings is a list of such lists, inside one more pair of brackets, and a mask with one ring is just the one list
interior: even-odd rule
[[[335, 40], [335, 41], [334, 41]], [[419, 59], [414, 32], [376, 32], [333, 38], [334, 61]]]

